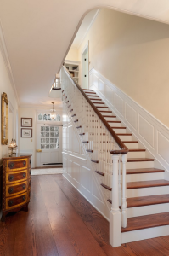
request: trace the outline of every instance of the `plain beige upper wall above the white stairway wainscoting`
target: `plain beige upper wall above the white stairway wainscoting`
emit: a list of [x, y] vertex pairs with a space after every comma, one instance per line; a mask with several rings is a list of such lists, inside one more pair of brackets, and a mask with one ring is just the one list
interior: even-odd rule
[[169, 26], [101, 9], [89, 40], [90, 69], [132, 97], [169, 127]]

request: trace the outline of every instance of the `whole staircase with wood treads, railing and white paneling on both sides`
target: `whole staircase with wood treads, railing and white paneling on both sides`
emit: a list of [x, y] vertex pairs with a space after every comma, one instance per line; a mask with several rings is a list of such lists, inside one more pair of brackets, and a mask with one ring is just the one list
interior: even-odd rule
[[169, 235], [169, 131], [92, 69], [62, 68], [64, 176], [110, 221], [110, 244]]

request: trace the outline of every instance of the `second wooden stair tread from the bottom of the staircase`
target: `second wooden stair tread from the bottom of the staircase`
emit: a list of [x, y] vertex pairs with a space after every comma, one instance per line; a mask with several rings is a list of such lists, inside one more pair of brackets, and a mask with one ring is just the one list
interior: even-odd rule
[[169, 203], [169, 194], [127, 198], [127, 208]]

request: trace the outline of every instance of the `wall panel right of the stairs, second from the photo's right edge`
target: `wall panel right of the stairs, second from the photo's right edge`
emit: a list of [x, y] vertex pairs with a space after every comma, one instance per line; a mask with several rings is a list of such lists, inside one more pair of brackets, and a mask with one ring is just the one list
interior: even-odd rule
[[141, 135], [144, 140], [149, 143], [149, 145], [154, 148], [154, 126], [149, 123], [148, 120], [144, 119], [143, 116], [138, 114], [138, 133]]

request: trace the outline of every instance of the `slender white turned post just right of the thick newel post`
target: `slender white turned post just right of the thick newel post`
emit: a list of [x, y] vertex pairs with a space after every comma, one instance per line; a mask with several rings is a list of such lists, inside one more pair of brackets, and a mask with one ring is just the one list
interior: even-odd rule
[[122, 227], [127, 227], [127, 182], [126, 182], [126, 165], [127, 165], [127, 154], [122, 155], [122, 206], [121, 206], [121, 218]]

